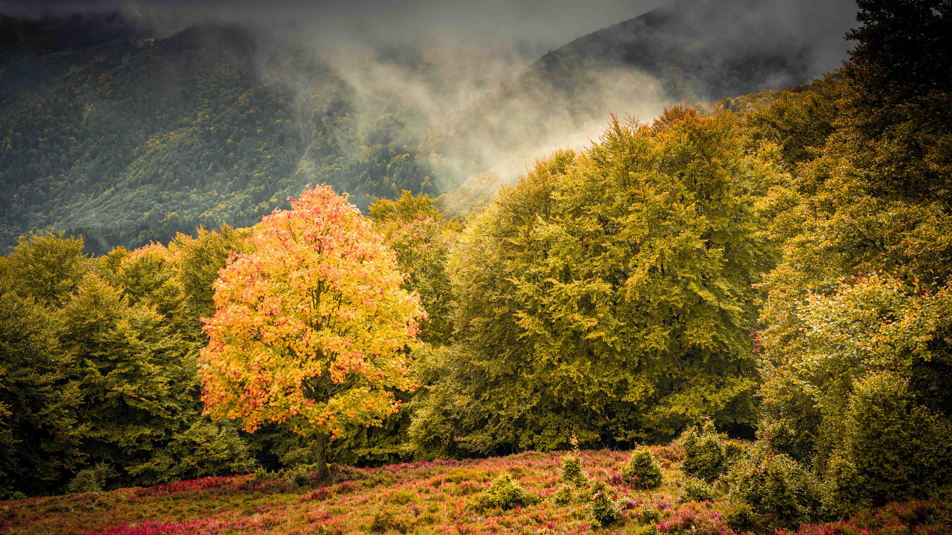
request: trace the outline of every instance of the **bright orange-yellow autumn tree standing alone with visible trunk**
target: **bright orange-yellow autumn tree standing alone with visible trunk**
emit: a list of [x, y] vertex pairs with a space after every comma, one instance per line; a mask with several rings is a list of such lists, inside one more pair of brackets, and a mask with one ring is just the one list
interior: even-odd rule
[[291, 207], [256, 225], [253, 252], [233, 255], [214, 284], [203, 399], [249, 432], [292, 426], [324, 477], [328, 439], [396, 412], [393, 390], [412, 386], [404, 349], [426, 313], [347, 197], [322, 186]]

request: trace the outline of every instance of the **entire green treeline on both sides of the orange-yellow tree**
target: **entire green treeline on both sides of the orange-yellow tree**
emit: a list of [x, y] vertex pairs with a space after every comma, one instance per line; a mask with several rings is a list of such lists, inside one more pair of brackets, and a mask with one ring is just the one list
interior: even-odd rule
[[[743, 118], [612, 118], [466, 225], [409, 191], [372, 205], [428, 313], [419, 386], [329, 460], [558, 449], [573, 434], [626, 447], [707, 422], [698, 440], [756, 436], [745, 485], [804, 489], [790, 491], [798, 519], [947, 497], [952, 69], [931, 44], [948, 42], [948, 6], [861, 9], [843, 69], [729, 103]], [[96, 258], [63, 234], [21, 238], [0, 263], [8, 495], [315, 461], [281, 426], [202, 415], [200, 318], [247, 233]]]

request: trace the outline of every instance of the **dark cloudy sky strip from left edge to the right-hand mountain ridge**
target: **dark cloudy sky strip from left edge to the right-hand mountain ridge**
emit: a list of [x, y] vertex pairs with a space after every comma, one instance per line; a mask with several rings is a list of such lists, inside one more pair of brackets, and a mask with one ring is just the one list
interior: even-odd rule
[[[533, 50], [638, 16], [664, 0], [146, 0], [82, 2], [0, 0], [0, 12], [31, 14], [122, 10], [166, 30], [208, 18], [258, 27], [370, 40], [415, 41], [434, 33], [519, 39]], [[545, 52], [545, 50], [543, 50]]]

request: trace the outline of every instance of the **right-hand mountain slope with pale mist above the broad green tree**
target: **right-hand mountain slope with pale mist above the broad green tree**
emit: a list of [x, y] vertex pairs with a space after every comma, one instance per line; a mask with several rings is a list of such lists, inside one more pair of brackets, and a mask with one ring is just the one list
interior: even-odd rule
[[[679, 0], [550, 51], [447, 121], [429, 143], [456, 155], [460, 174], [495, 188], [531, 161], [514, 154], [581, 145], [597, 136], [609, 111], [648, 119], [673, 103], [808, 82], [836, 67], [829, 56], [843, 55], [853, 11], [845, 1]], [[487, 168], [499, 180], [487, 181]], [[456, 196], [445, 206], [466, 205]]]

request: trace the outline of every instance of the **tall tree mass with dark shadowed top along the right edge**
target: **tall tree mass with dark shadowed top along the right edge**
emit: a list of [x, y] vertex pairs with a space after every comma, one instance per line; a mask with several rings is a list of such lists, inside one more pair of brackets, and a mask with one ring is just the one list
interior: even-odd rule
[[[783, 241], [784, 254], [764, 282], [759, 342], [762, 434], [812, 466], [827, 488], [840, 488], [842, 500], [868, 502], [937, 492], [929, 478], [903, 486], [884, 468], [877, 475], [856, 464], [902, 459], [907, 464], [896, 470], [915, 471], [916, 459], [935, 453], [929, 446], [911, 440], [918, 450], [903, 444], [894, 455], [886, 443], [877, 451], [863, 440], [863, 453], [851, 453], [859, 435], [848, 429], [860, 426], [843, 415], [861, 399], [857, 388], [886, 372], [891, 386], [877, 387], [900, 399], [902, 410], [927, 415], [904, 421], [925, 426], [909, 428], [911, 435], [929, 435], [927, 422], [941, 427], [952, 415], [944, 304], [952, 278], [952, 131], [943, 119], [952, 78], [948, 2], [859, 4], [863, 26], [850, 33], [858, 44], [837, 75], [833, 131], [765, 201], [777, 214], [769, 233]], [[853, 478], [865, 478], [863, 489], [845, 492]]]

